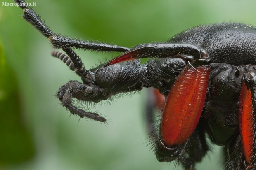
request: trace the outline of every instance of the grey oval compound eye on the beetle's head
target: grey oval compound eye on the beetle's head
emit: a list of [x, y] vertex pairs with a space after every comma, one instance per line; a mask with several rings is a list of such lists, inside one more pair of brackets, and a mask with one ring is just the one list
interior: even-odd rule
[[95, 74], [95, 81], [101, 88], [110, 88], [118, 81], [121, 71], [120, 64], [99, 68]]

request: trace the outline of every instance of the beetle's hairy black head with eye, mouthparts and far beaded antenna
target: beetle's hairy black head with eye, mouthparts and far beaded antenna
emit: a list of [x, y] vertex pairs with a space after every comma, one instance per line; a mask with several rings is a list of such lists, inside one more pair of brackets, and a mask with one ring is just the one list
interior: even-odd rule
[[[59, 52], [54, 52], [53, 56], [60, 59], [69, 58]], [[68, 59], [64, 61], [66, 63]], [[69, 67], [72, 62], [66, 63]], [[71, 67], [74, 70], [73, 67]], [[77, 70], [77, 69], [76, 69]], [[79, 73], [79, 72], [78, 72]], [[81, 75], [81, 74], [78, 74]], [[98, 103], [107, 100], [119, 93], [140, 91], [143, 87], [151, 86], [147, 80], [147, 67], [140, 63], [140, 60], [124, 62], [109, 67], [99, 66], [87, 71], [85, 76], [81, 76], [83, 83], [69, 81], [61, 86], [56, 97], [61, 101], [71, 114], [76, 114], [81, 118], [87, 117], [95, 121], [106, 122], [106, 119], [97, 113], [87, 112], [73, 105], [73, 98], [80, 101]]]

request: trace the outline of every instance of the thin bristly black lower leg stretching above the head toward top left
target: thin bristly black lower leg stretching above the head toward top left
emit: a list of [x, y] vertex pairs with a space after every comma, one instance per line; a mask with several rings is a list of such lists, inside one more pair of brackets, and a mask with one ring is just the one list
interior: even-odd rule
[[48, 26], [46, 26], [45, 22], [40, 19], [38, 14], [31, 8], [26, 5], [24, 0], [14, 0], [14, 2], [22, 4], [19, 6], [24, 11], [23, 18], [31, 23], [33, 27], [35, 27], [40, 33], [43, 34], [44, 37], [47, 37], [52, 43], [53, 47], [57, 49], [63, 48], [79, 48], [85, 50], [94, 50], [94, 51], [114, 51], [114, 52], [125, 52], [128, 51], [129, 48], [103, 44], [102, 42], [89, 42], [86, 40], [80, 40], [76, 38], [64, 37], [62, 35], [53, 33]]

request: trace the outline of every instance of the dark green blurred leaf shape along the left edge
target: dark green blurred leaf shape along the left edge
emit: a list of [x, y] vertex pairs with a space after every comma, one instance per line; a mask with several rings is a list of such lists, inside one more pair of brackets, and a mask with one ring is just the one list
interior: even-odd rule
[[24, 125], [17, 79], [0, 43], [0, 165], [21, 163], [35, 154], [31, 133]]

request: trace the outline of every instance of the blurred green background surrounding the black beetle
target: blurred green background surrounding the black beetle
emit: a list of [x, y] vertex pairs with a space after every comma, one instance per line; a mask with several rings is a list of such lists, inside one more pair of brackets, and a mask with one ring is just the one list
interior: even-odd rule
[[[96, 105], [109, 126], [69, 117], [55, 93], [79, 80], [18, 7], [0, 5], [0, 169], [171, 170], [146, 147], [146, 91]], [[6, 2], [12, 2], [7, 0]], [[255, 0], [33, 0], [53, 31], [133, 47], [204, 23], [255, 24]], [[77, 51], [87, 68], [115, 54]], [[197, 165], [223, 169], [222, 147]]]

